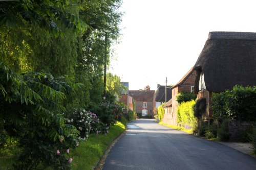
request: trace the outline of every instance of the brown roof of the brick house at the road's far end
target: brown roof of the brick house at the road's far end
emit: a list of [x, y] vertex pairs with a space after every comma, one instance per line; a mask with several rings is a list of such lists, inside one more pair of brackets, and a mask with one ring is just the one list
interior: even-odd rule
[[129, 90], [129, 95], [136, 101], [152, 102], [155, 93], [155, 90]]

